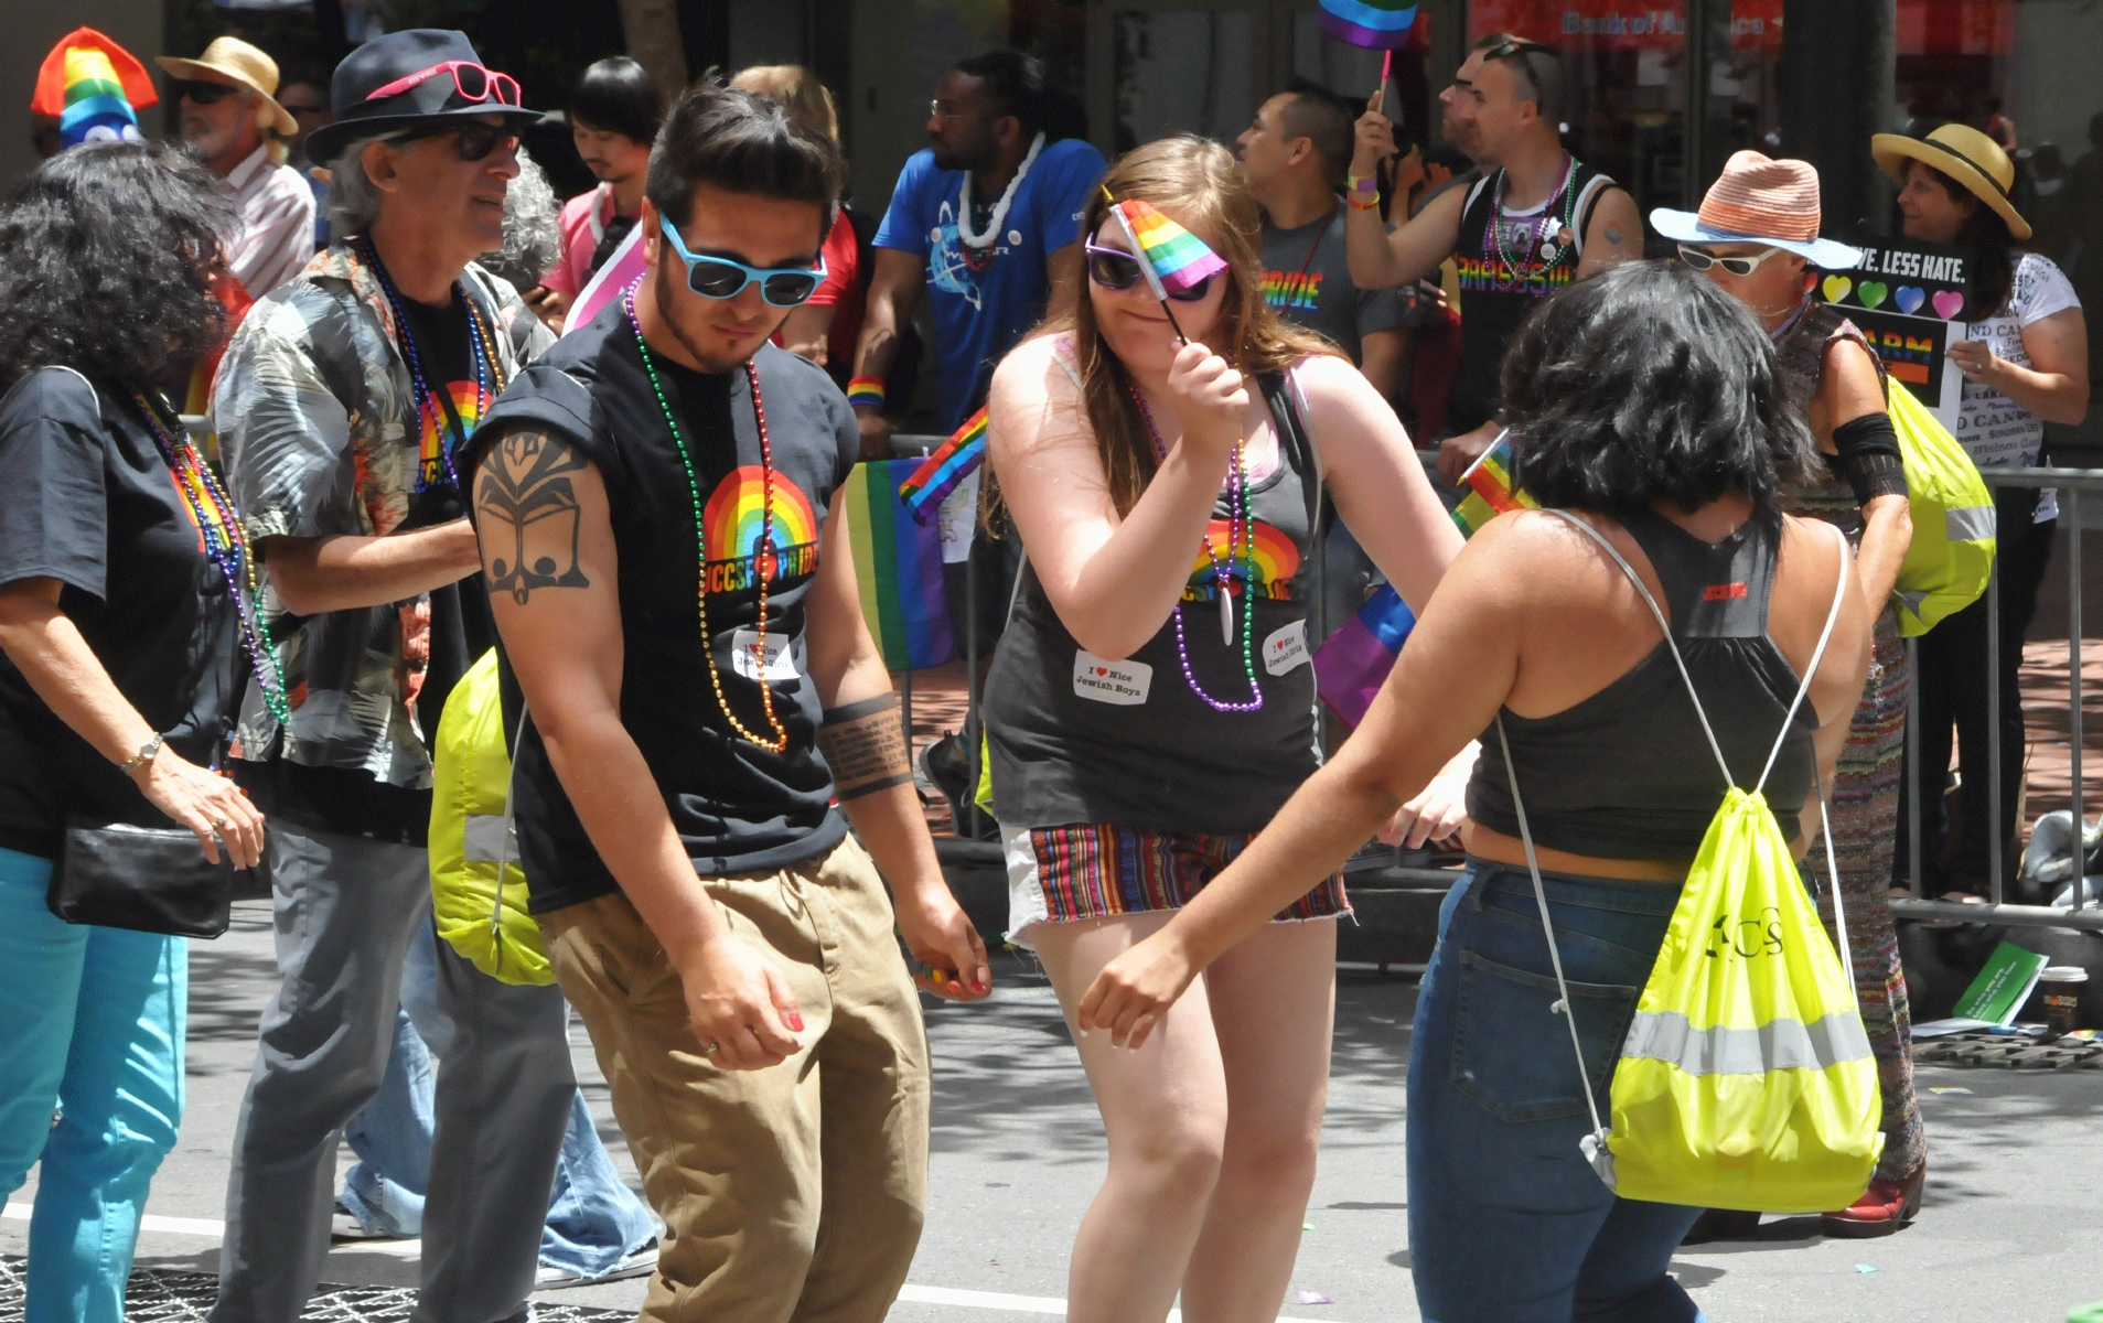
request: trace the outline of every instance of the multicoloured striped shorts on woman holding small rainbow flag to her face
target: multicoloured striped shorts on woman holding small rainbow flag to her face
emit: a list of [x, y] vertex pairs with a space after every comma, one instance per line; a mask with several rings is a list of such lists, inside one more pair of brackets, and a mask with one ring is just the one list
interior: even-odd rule
[[[1157, 831], [1115, 822], [1003, 827], [1007, 940], [1028, 947], [1033, 923], [1073, 923], [1182, 909], [1249, 848], [1249, 835]], [[1277, 921], [1350, 911], [1344, 875], [1321, 881]]]

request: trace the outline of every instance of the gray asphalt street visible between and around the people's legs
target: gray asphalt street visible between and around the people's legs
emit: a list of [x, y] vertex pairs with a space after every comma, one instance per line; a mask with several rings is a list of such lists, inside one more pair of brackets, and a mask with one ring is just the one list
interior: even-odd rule
[[[212, 1273], [227, 1146], [273, 991], [267, 909], [191, 949], [189, 1111], [154, 1184], [139, 1264]], [[1346, 970], [1321, 1178], [1283, 1317], [1420, 1319], [1403, 1182], [1409, 978]], [[1049, 984], [1003, 957], [995, 997], [932, 1007], [936, 1060], [927, 1233], [896, 1323], [1022, 1323], [1056, 1317], [1066, 1251], [1102, 1178], [1102, 1125]], [[580, 1026], [578, 1075], [601, 1134], [633, 1180]], [[1922, 1068], [1931, 1182], [1920, 1220], [1888, 1239], [1828, 1241], [1815, 1218], [1769, 1218], [1756, 1241], [1701, 1245], [1676, 1277], [1716, 1323], [1937, 1319], [2059, 1323], [2103, 1300], [2090, 1224], [2103, 1205], [2103, 1073]], [[1935, 1092], [1954, 1090], [1954, 1092]], [[345, 1151], [343, 1161], [349, 1163]], [[8, 1199], [0, 1254], [23, 1254], [36, 1180]], [[414, 1285], [416, 1245], [339, 1245], [328, 1281]], [[536, 1300], [635, 1308], [644, 1283]]]

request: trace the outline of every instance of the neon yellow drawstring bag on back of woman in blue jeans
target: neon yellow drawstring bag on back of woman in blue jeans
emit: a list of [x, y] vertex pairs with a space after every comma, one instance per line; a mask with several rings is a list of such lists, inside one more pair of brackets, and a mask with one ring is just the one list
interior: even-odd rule
[[[1678, 660], [1678, 644], [1672, 642], [1663, 612], [1621, 553], [1581, 520], [1552, 513], [1607, 547], [1651, 604]], [[1842, 559], [1842, 589], [1849, 566]], [[1796, 703], [1783, 717], [1783, 734], [1811, 688], [1838, 616], [1840, 591], [1834, 593]], [[1680, 677], [1699, 713], [1701, 698], [1693, 694], [1685, 663]], [[1708, 730], [1706, 713], [1701, 726]], [[1502, 719], [1497, 738], [1504, 738]], [[1832, 1212], [1861, 1197], [1884, 1151], [1884, 1136], [1878, 1134], [1882, 1096], [1876, 1058], [1861, 1026], [1849, 965], [1825, 936], [1817, 907], [1790, 858], [1790, 843], [1760, 795], [1781, 740], [1752, 791], [1731, 776], [1714, 734], [1710, 749], [1731, 789], [1710, 820], [1651, 978], [1636, 1001], [1636, 1016], [1613, 1071], [1611, 1129], [1600, 1125], [1584, 1052], [1577, 1054], [1586, 1106], [1592, 1108], [1592, 1134], [1579, 1146], [1598, 1178], [1626, 1199], [1771, 1214]], [[1506, 768], [1512, 766], [1510, 747], [1504, 761]], [[1823, 787], [1819, 791], [1823, 820]], [[1533, 835], [1527, 831], [1516, 780], [1512, 803], [1563, 995], [1556, 1010], [1571, 1022], [1567, 1007], [1573, 1001], [1563, 980], [1563, 957], [1554, 944], [1541, 873], [1533, 864]], [[1825, 858], [1844, 951], [1840, 873], [1830, 831]], [[1571, 1043], [1577, 1045], [1575, 1022]]]

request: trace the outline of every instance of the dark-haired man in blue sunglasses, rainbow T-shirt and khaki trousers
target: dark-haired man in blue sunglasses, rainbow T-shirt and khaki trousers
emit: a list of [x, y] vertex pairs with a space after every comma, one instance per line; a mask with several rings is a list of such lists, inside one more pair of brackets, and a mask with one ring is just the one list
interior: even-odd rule
[[646, 1319], [879, 1323], [927, 1193], [915, 984], [991, 982], [862, 620], [852, 414], [768, 343], [843, 172], [778, 101], [686, 93], [648, 269], [461, 456], [530, 909], [667, 1226]]

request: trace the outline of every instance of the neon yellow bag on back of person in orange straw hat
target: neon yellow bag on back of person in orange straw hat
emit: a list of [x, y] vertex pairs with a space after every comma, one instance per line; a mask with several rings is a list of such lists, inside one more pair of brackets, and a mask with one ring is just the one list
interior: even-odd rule
[[1905, 501], [1914, 515], [1914, 541], [1899, 562], [1891, 599], [1899, 610], [1899, 633], [1914, 637], [1985, 591], [1994, 572], [1994, 492], [1964, 446], [1905, 383], [1888, 383], [1884, 402], [1891, 429], [1899, 435]]

